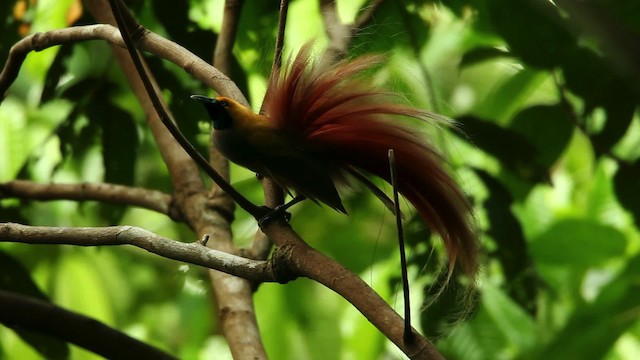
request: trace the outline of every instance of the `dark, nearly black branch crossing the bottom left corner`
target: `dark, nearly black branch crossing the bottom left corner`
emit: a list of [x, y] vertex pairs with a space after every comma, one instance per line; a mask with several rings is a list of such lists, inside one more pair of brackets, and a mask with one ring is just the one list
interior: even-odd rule
[[176, 359], [95, 319], [52, 303], [0, 290], [0, 323], [70, 342], [107, 359]]

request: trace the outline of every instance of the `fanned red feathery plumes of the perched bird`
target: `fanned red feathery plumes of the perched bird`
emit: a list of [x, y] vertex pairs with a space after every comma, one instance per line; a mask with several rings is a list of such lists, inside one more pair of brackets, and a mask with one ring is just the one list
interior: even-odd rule
[[343, 169], [389, 178], [388, 150], [396, 154], [398, 191], [443, 239], [450, 259], [464, 270], [477, 269], [477, 240], [471, 206], [445, 171], [442, 157], [404, 118], [434, 121], [436, 116], [399, 102], [374, 88], [363, 72], [380, 56], [362, 56], [334, 65], [312, 61], [311, 44], [302, 47], [269, 83], [264, 110], [270, 121], [307, 151], [322, 154]]

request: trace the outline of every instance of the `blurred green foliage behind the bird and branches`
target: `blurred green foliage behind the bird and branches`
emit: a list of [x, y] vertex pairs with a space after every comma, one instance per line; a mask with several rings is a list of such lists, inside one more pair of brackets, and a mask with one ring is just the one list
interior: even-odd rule
[[[1, 5], [0, 63], [20, 31], [65, 26], [71, 2], [29, 2], [24, 12], [14, 11], [25, 3]], [[338, 1], [343, 21], [352, 21], [366, 3]], [[220, 0], [135, 1], [132, 9], [144, 26], [209, 61], [222, 6]], [[618, 360], [640, 354], [640, 70], [627, 66], [638, 56], [640, 6], [590, 2], [597, 10], [591, 15], [599, 16], [557, 6], [386, 1], [353, 40], [354, 53], [388, 54], [380, 69], [388, 86], [417, 106], [457, 119], [462, 129], [425, 132], [450, 159], [476, 208], [484, 269], [468, 302], [468, 286], [458, 279], [440, 301], [420, 306], [438, 290], [441, 246], [425, 242], [421, 222], [406, 224], [414, 312], [421, 315], [414, 316], [421, 319], [416, 326], [447, 358]], [[256, 109], [276, 19], [275, 2], [246, 2], [234, 48], [232, 78]], [[599, 21], [611, 19], [617, 27], [603, 32]], [[91, 19], [85, 14], [78, 22]], [[319, 48], [326, 44], [317, 1], [292, 1], [286, 51], [313, 38]], [[627, 38], [636, 40], [635, 48]], [[176, 66], [148, 60], [181, 128], [204, 152], [204, 119], [188, 95], [207, 89]], [[109, 181], [171, 191], [140, 107], [109, 47], [99, 42], [27, 57], [0, 106], [0, 164], [2, 182]], [[234, 167], [232, 176], [260, 201], [251, 173]], [[294, 209], [293, 226], [400, 309], [394, 221], [361, 189], [346, 194], [349, 217], [304, 203]], [[255, 224], [241, 211], [236, 215], [234, 233], [246, 243]], [[194, 240], [184, 225], [161, 215], [95, 202], [5, 199], [0, 221], [129, 224]], [[0, 257], [3, 289], [48, 298], [182, 359], [230, 357], [202, 269], [125, 247], [3, 243]], [[308, 280], [264, 284], [255, 301], [271, 358], [401, 357], [346, 301]], [[456, 321], [464, 311], [466, 319]], [[46, 357], [35, 350], [42, 341], [0, 327], [0, 359]], [[69, 350], [57, 351], [64, 356]], [[76, 347], [69, 357], [96, 358]]]

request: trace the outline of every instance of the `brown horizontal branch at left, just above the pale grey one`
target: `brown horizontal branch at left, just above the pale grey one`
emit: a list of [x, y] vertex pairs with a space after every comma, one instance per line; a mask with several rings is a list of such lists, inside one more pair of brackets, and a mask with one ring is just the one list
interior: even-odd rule
[[161, 191], [117, 184], [39, 184], [26, 180], [0, 183], [0, 199], [10, 197], [43, 201], [105, 201], [153, 210], [176, 221], [181, 217], [171, 196]]

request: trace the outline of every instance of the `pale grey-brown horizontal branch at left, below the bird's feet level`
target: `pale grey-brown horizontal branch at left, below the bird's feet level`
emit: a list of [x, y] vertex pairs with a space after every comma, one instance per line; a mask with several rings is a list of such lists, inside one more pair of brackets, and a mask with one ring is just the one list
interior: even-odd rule
[[224, 271], [250, 280], [278, 281], [269, 262], [209, 249], [200, 242], [183, 243], [134, 226], [51, 227], [0, 223], [0, 242], [78, 246], [133, 245], [165, 258]]

